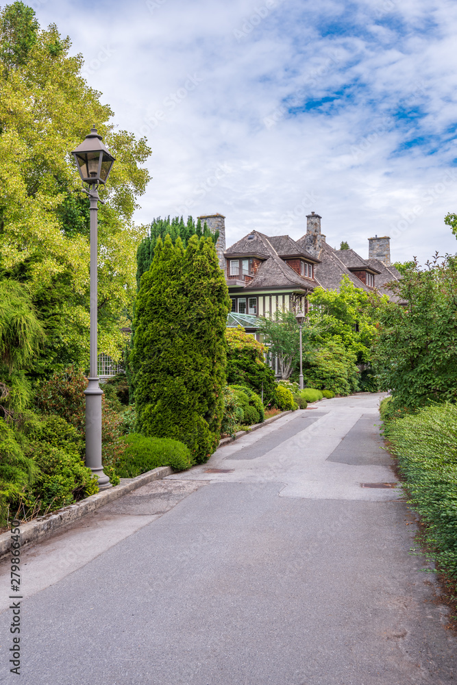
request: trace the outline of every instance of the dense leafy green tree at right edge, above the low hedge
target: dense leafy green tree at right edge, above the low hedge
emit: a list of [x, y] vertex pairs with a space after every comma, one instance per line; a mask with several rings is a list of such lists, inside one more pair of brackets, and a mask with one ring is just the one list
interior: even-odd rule
[[405, 269], [393, 292], [406, 306], [380, 310], [373, 358], [393, 408], [457, 401], [457, 257], [436, 254], [425, 270]]

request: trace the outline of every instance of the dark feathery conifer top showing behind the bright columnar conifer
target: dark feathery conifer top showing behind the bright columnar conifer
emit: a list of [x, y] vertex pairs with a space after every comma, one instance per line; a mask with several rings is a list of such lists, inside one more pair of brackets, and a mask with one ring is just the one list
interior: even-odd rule
[[140, 287], [140, 279], [143, 273], [148, 271], [151, 266], [158, 238], [164, 240], [167, 234], [171, 237], [173, 245], [178, 237], [181, 238], [183, 247], [187, 246], [188, 240], [192, 236], [211, 238], [214, 245], [216, 245], [219, 238], [219, 231], [213, 234], [208, 228], [206, 221], [202, 229], [200, 219], [197, 219], [197, 223], [195, 223], [192, 216], [188, 216], [187, 223], [184, 223], [182, 216], [175, 216], [171, 220], [169, 216], [166, 219], [160, 219], [160, 216], [158, 219], [154, 219], [149, 228], [149, 235], [140, 242], [136, 253], [136, 284], [138, 288]]

